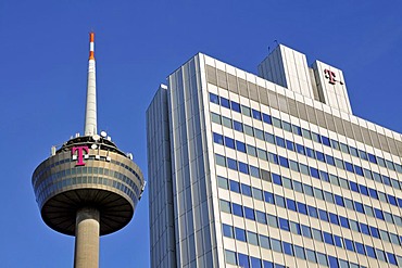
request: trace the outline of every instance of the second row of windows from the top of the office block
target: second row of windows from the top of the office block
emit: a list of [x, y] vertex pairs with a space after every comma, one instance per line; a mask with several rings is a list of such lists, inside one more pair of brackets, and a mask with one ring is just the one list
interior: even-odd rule
[[[211, 117], [212, 117], [212, 122], [214, 122], [216, 124], [219, 124], [219, 125], [223, 125], [225, 127], [231, 128], [236, 131], [244, 132], [246, 135], [255, 137], [259, 140], [266, 141], [266, 142], [272, 143], [272, 144], [276, 144], [276, 145], [281, 146], [284, 149], [293, 151], [298, 154], [302, 154], [302, 155], [305, 155], [307, 157], [311, 157], [311, 158], [317, 159], [319, 162], [326, 163], [328, 165], [335, 166], [337, 168], [344, 169], [347, 171], [353, 173], [353, 174], [359, 175], [359, 176], [363, 176], [367, 179], [375, 180], [379, 183], [384, 183], [386, 186], [393, 187], [398, 190], [402, 189], [402, 182], [400, 182], [397, 179], [393, 179], [393, 178], [390, 178], [388, 176], [372, 171], [367, 168], [363, 168], [363, 167], [357, 166], [357, 165], [353, 165], [352, 163], [342, 161], [340, 158], [330, 156], [328, 154], [324, 154], [324, 153], [322, 153], [317, 150], [313, 150], [313, 149], [304, 146], [302, 144], [294, 143], [294, 142], [286, 140], [281, 137], [274, 136], [269, 132], [265, 132], [261, 129], [248, 126], [246, 124], [242, 124], [242, 123], [237, 122], [237, 120], [233, 120], [230, 118], [227, 118], [225, 116], [221, 116], [221, 115], [215, 114], [215, 113], [211, 113]], [[241, 150], [242, 149], [240, 149], [239, 151], [241, 151]], [[242, 151], [246, 151], [246, 150], [242, 150]], [[257, 152], [256, 153], [251, 152], [251, 154], [254, 155], [254, 156], [260, 157]]]

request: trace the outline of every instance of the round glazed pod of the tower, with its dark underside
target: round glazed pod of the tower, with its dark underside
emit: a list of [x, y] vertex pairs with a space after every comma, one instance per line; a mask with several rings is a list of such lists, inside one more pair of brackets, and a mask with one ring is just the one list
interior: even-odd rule
[[[125, 227], [141, 196], [143, 178], [138, 166], [118, 150], [98, 145], [75, 157], [71, 149], [83, 139], [68, 141], [42, 162], [33, 186], [43, 221], [55, 231], [74, 235], [76, 213], [93, 207], [100, 213], [100, 235]], [[93, 144], [93, 143], [92, 143]], [[86, 144], [91, 148], [91, 144]]]

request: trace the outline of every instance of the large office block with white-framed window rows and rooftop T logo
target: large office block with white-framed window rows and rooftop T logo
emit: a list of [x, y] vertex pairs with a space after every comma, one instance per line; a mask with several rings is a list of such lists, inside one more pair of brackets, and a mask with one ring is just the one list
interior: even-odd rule
[[147, 111], [152, 267], [402, 267], [402, 137], [279, 44], [197, 54]]

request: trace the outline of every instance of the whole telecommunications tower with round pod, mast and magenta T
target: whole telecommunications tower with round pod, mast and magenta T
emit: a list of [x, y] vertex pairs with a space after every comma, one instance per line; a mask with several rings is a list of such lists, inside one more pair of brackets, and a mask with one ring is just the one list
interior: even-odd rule
[[122, 152], [106, 132], [98, 135], [93, 39], [90, 33], [84, 136], [53, 146], [32, 179], [43, 221], [75, 235], [75, 268], [99, 267], [99, 235], [130, 221], [145, 188], [133, 155]]

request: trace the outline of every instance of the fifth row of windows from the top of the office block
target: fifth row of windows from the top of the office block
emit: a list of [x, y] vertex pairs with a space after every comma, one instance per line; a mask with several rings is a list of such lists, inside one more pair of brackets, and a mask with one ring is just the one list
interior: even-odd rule
[[[292, 210], [292, 212], [298, 212], [300, 214], [310, 216], [312, 218], [317, 218], [317, 219], [330, 222], [332, 225], [337, 225], [337, 226], [340, 226], [340, 227], [343, 227], [343, 228], [347, 228], [347, 229], [351, 229], [353, 231], [361, 232], [365, 235], [370, 235], [373, 238], [380, 239], [382, 241], [390, 242], [390, 243], [393, 243], [393, 244], [399, 245], [399, 246], [402, 243], [402, 237], [399, 237], [394, 233], [391, 233], [391, 232], [388, 232], [388, 231], [385, 231], [385, 230], [380, 230], [377, 227], [368, 226], [366, 224], [359, 222], [359, 221], [355, 221], [353, 219], [348, 219], [343, 216], [336, 215], [334, 213], [326, 212], [324, 209], [316, 208], [314, 206], [306, 205], [306, 204], [301, 203], [301, 202], [296, 202], [294, 200], [291, 200], [291, 199], [285, 199], [280, 195], [277, 195], [277, 194], [274, 194], [274, 193], [271, 193], [271, 192], [267, 192], [267, 191], [262, 191], [257, 188], [251, 188], [248, 184], [239, 183], [235, 180], [228, 180], [228, 179], [223, 178], [223, 177], [217, 177], [217, 179], [218, 179], [218, 186], [223, 189], [227, 189], [227, 190], [230, 190], [233, 192], [241, 193], [243, 195], [253, 197], [255, 200], [264, 201], [266, 203], [277, 205], [279, 207], [282, 207], [285, 209], [289, 209], [289, 210]], [[313, 193], [312, 187], [310, 187], [307, 184], [304, 184], [304, 186], [307, 187], [305, 189], [309, 189], [309, 191], [311, 191], [311, 193]], [[239, 210], [238, 205], [234, 205], [231, 208], [233, 208], [231, 212], [234, 214], [236, 213], [236, 215], [238, 215], [238, 216], [239, 215], [246, 215], [246, 208], [244, 208], [244, 212]], [[234, 210], [234, 209], [236, 209], [236, 210]], [[247, 208], [247, 210], [249, 210], [249, 208]], [[255, 216], [252, 216], [252, 214], [248, 215], [249, 219], [256, 220], [260, 224], [265, 224], [265, 225], [268, 224], [268, 225], [275, 227], [275, 226], [277, 226], [277, 224], [276, 224], [277, 220], [275, 220], [274, 217], [275, 216], [272, 216], [269, 214], [265, 215], [264, 213], [259, 212], [256, 209], [255, 209]], [[309, 227], [306, 227], [306, 228], [309, 228]]]

